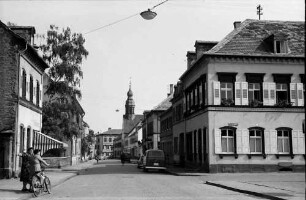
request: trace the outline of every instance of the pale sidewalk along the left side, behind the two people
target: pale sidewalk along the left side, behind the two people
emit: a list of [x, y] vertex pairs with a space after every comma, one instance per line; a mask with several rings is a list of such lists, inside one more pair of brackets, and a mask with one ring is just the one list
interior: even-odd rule
[[[95, 163], [95, 160], [79, 163], [74, 166], [66, 166], [61, 169], [47, 168], [45, 170], [47, 176], [51, 180], [52, 187], [63, 183], [64, 181], [74, 177], [77, 173], [85, 168], [90, 168]], [[22, 182], [17, 179], [1, 179], [0, 180], [0, 200], [23, 200], [33, 197], [32, 193], [22, 192]]]

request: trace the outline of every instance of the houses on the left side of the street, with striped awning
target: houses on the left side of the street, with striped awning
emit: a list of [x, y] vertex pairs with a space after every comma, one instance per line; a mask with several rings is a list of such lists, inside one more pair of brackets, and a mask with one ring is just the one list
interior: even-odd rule
[[32, 26], [7, 26], [0, 21], [0, 178], [18, 176], [18, 154], [29, 147], [41, 149], [42, 154], [64, 149], [67, 164], [81, 158], [85, 112], [78, 102], [80, 112], [72, 120], [78, 124], [79, 136], [59, 141], [41, 132], [42, 105], [48, 99], [45, 70], [49, 66], [34, 48], [34, 35]]

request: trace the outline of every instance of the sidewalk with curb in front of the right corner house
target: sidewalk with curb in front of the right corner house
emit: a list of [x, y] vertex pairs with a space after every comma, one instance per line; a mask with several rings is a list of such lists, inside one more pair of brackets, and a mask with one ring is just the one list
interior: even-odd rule
[[196, 170], [169, 166], [176, 176], [199, 176], [204, 184], [221, 187], [265, 199], [305, 199], [305, 173], [200, 173]]

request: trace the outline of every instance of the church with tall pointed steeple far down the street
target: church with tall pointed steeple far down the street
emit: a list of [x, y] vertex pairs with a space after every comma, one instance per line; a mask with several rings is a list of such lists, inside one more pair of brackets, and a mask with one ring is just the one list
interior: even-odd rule
[[133, 128], [143, 119], [143, 115], [136, 115], [134, 113], [134, 110], [135, 110], [135, 102], [133, 99], [133, 92], [130, 83], [129, 91], [127, 92], [127, 100], [125, 102], [125, 114], [123, 115], [122, 135], [121, 135], [122, 152], [126, 153], [130, 153], [128, 148], [129, 146], [128, 135], [129, 133], [131, 133]]

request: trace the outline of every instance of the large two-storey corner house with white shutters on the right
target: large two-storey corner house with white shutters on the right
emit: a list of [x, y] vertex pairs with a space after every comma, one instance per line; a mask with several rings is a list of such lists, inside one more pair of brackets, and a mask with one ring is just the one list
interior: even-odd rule
[[305, 170], [304, 26], [245, 20], [218, 43], [196, 42], [180, 77], [183, 123], [173, 129], [180, 162], [209, 172]]

